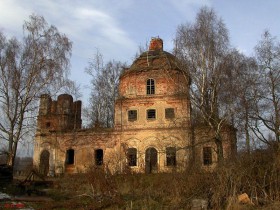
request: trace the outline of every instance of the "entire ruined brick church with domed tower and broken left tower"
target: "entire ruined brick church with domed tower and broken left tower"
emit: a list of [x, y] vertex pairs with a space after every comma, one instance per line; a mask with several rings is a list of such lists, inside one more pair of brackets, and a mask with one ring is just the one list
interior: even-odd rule
[[[35, 167], [46, 175], [84, 172], [105, 167], [112, 173], [187, 170], [195, 163], [217, 164], [213, 132], [193, 125], [190, 78], [175, 56], [152, 38], [120, 76], [114, 128], [82, 129], [81, 101], [63, 94], [57, 100], [42, 95], [34, 143]], [[236, 152], [235, 130], [224, 128], [226, 158]]]

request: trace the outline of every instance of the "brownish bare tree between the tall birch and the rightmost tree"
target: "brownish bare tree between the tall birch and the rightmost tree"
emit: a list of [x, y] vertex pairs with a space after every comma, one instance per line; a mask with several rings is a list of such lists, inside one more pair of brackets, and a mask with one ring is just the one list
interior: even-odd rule
[[231, 81], [225, 93], [230, 93], [232, 103], [235, 104], [232, 112], [232, 124], [238, 129], [240, 139], [245, 140], [245, 148], [248, 153], [251, 151], [253, 125], [252, 113], [255, 101], [255, 92], [257, 87], [257, 63], [253, 57], [247, 57], [244, 54], [233, 50], [228, 57], [231, 63]]

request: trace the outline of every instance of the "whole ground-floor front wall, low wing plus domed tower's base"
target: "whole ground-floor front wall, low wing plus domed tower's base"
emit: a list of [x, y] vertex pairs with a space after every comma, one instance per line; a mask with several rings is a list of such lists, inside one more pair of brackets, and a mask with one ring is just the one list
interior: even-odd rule
[[[104, 152], [102, 167], [112, 173], [145, 172], [145, 152], [153, 147], [158, 152], [158, 172], [170, 172], [174, 167], [166, 165], [166, 148], [176, 148], [177, 171], [183, 171], [190, 160], [190, 135], [185, 129], [145, 129], [125, 132], [91, 131], [53, 132], [36, 135], [34, 165], [40, 168], [40, 156], [44, 150], [50, 153], [49, 175], [85, 172], [95, 163], [95, 151]], [[128, 167], [127, 149], [137, 149], [137, 166]], [[67, 165], [67, 150], [74, 150], [74, 162]]]

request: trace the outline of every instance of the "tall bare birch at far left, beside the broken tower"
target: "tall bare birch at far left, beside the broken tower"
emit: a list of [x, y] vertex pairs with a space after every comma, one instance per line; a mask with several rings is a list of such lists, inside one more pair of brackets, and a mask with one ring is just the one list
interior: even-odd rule
[[0, 33], [0, 140], [11, 166], [18, 143], [34, 129], [39, 95], [67, 75], [72, 48], [41, 16], [31, 15], [23, 32], [21, 41]]

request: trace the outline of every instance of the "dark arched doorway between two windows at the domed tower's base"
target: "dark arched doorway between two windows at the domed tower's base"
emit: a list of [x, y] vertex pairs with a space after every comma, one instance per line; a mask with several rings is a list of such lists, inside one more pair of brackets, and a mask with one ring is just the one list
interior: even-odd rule
[[157, 150], [150, 147], [145, 152], [145, 172], [156, 173], [158, 169]]

